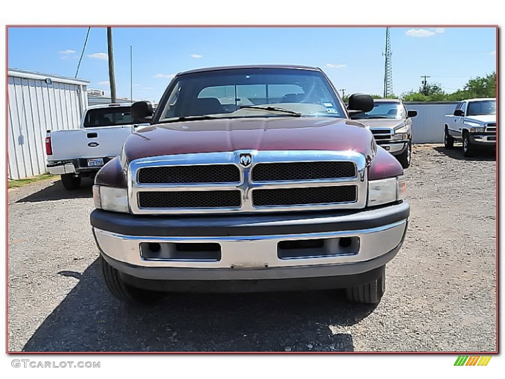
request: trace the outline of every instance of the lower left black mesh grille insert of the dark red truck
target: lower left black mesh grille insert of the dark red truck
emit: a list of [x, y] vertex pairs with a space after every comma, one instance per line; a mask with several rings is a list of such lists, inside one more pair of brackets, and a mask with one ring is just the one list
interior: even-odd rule
[[139, 192], [140, 208], [237, 208], [240, 191]]

